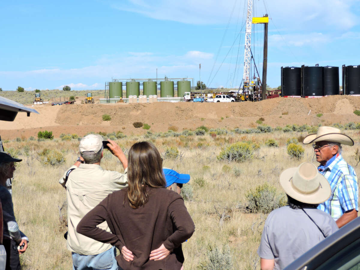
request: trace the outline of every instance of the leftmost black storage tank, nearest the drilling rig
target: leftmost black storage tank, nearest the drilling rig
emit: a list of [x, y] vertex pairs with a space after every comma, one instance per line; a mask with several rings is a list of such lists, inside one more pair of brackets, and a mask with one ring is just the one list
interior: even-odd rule
[[281, 96], [301, 97], [300, 67], [281, 67]]

